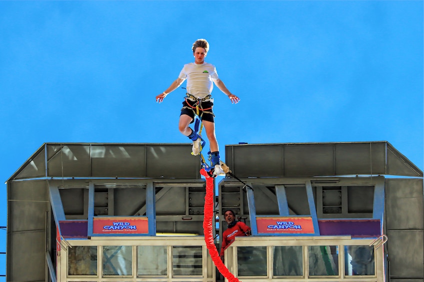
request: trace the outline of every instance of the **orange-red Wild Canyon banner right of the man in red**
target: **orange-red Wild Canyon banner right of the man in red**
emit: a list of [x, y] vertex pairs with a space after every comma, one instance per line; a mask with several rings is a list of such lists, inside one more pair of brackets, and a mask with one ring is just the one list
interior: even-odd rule
[[257, 233], [314, 234], [312, 217], [256, 217]]

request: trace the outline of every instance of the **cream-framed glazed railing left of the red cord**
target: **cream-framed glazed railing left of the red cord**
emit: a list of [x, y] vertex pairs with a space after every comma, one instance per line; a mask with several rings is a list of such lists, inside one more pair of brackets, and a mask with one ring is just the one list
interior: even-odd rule
[[91, 237], [67, 244], [58, 257], [57, 282], [215, 281], [201, 236]]

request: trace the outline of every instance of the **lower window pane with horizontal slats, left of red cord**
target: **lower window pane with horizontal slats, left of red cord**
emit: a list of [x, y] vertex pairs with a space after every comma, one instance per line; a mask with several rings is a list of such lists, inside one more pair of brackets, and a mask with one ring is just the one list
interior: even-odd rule
[[201, 276], [201, 246], [172, 246], [172, 276]]

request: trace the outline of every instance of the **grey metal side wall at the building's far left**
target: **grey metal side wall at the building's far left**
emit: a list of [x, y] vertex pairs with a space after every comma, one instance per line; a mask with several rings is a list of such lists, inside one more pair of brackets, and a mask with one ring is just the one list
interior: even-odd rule
[[50, 210], [46, 182], [12, 182], [7, 188], [7, 279], [44, 281]]

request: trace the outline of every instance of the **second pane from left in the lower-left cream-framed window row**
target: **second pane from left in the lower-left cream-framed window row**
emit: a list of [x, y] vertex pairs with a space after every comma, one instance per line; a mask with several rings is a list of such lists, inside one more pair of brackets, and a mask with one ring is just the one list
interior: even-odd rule
[[132, 275], [132, 247], [103, 246], [103, 275]]

